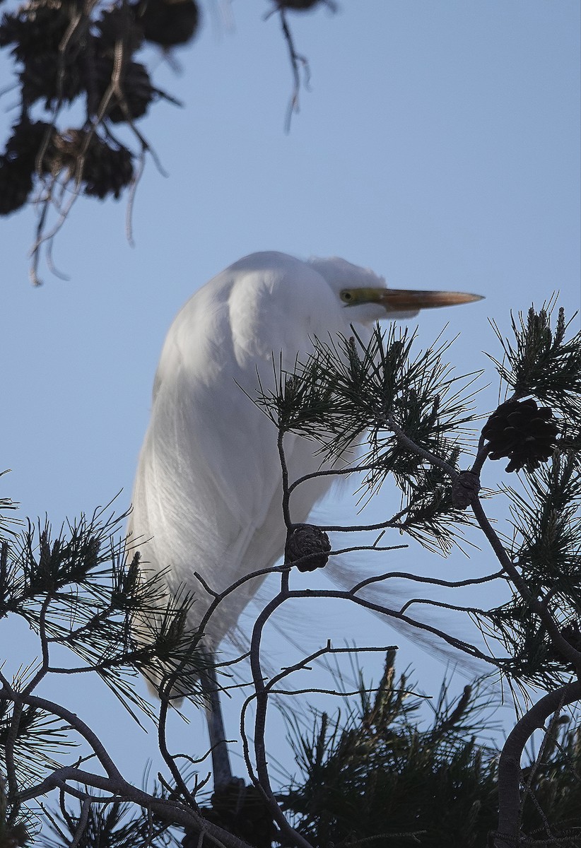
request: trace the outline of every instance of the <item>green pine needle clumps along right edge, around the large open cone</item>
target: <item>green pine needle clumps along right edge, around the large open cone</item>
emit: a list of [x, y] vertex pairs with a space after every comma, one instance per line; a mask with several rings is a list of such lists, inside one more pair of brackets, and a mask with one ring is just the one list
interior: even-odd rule
[[[511, 536], [503, 539], [534, 597], [543, 598], [561, 633], [579, 650], [581, 619], [581, 334], [567, 338], [571, 321], [554, 300], [512, 319], [513, 340], [502, 339], [504, 359], [494, 360], [511, 397], [532, 395], [551, 404], [558, 438], [550, 460], [523, 469], [518, 483], [503, 485], [511, 510]], [[483, 631], [506, 651], [509, 678], [544, 688], [565, 683], [573, 667], [550, 640], [528, 600], [511, 600], [480, 616]]]

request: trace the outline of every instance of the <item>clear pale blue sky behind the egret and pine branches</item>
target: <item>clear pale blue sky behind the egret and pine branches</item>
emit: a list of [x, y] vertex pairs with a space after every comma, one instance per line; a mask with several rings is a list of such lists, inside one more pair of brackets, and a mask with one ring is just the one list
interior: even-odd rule
[[[568, 315], [579, 307], [578, 0], [342, 0], [337, 14], [293, 14], [311, 78], [289, 133], [291, 73], [268, 4], [203, 8], [197, 41], [176, 53], [182, 74], [144, 54], [184, 108], [159, 103], [140, 123], [168, 176], [148, 160], [135, 246], [123, 200], [81, 198], [53, 251], [70, 280], [45, 266], [33, 288], [36, 211], [0, 221], [0, 465], [12, 469], [1, 494], [23, 516], [47, 512], [58, 525], [121, 489], [119, 508], [128, 505], [170, 321], [254, 250], [338, 255], [394, 287], [482, 293], [481, 304], [419, 321], [424, 345], [446, 321], [449, 336], [461, 332], [451, 359], [462, 371], [489, 367], [489, 317], [507, 329], [510, 310], [554, 290]], [[0, 78], [8, 73], [4, 55]], [[0, 101], [3, 127], [15, 100]], [[483, 412], [498, 392], [491, 368], [484, 382]], [[436, 567], [464, 567], [455, 562]], [[408, 661], [437, 687], [431, 659]], [[99, 721], [92, 692], [81, 706]], [[124, 739], [138, 774], [129, 731]]]

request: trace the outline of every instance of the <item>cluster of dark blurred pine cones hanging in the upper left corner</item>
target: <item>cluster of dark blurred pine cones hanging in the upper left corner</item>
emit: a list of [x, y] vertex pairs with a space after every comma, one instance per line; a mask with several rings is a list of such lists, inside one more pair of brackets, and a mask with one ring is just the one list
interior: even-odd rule
[[[0, 47], [17, 65], [20, 118], [0, 154], [0, 215], [20, 209], [38, 180], [72, 179], [87, 195], [119, 198], [134, 177], [134, 154], [115, 125], [147, 114], [156, 89], [135, 61], [145, 42], [165, 48], [198, 29], [195, 0], [136, 0], [87, 11], [82, 0], [30, 0], [3, 14]], [[62, 109], [84, 100], [82, 126], [56, 126]], [[48, 120], [32, 120], [31, 110]]]

